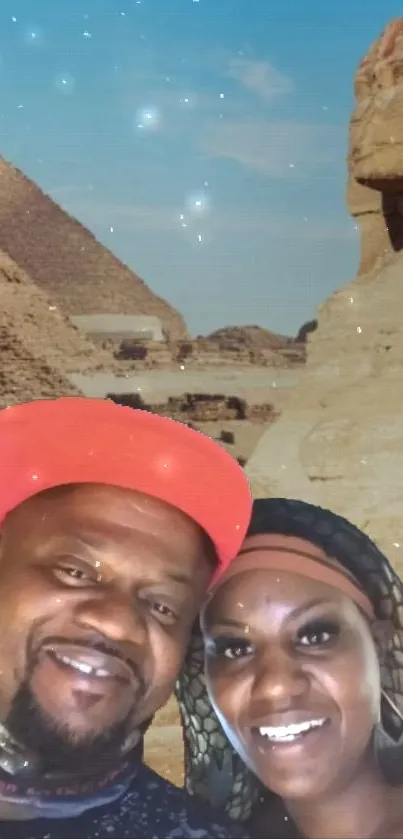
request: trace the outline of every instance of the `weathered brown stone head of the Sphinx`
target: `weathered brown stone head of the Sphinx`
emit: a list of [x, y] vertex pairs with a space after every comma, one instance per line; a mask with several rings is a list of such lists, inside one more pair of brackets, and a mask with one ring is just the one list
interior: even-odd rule
[[361, 61], [350, 122], [347, 203], [361, 235], [360, 272], [403, 247], [403, 18]]

